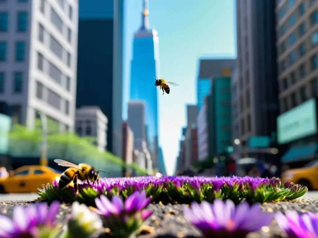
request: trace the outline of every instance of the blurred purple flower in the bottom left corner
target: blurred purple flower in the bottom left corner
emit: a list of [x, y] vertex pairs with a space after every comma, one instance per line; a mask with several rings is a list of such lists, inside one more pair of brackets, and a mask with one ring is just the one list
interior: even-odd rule
[[55, 226], [55, 216], [59, 211], [59, 202], [30, 204], [28, 207], [18, 206], [13, 210], [13, 219], [0, 215], [0, 237], [32, 238], [38, 236], [38, 228]]

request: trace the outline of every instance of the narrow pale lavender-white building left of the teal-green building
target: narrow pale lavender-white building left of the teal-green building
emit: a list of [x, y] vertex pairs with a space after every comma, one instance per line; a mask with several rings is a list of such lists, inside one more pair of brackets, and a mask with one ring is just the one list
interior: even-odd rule
[[198, 161], [203, 161], [209, 155], [209, 130], [206, 103], [203, 104], [197, 116], [197, 135]]

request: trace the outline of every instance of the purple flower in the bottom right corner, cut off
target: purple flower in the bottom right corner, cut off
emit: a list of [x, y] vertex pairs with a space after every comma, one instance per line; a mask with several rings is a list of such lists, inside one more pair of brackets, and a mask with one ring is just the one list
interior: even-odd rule
[[290, 238], [316, 238], [318, 237], [318, 213], [304, 213], [299, 215], [296, 211], [286, 211], [275, 214], [277, 224]]

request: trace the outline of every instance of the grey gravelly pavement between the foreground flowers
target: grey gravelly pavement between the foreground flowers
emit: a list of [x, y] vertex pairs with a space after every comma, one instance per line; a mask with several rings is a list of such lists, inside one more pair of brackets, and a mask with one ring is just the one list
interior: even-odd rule
[[[13, 208], [16, 205], [27, 206], [30, 201], [0, 202], [0, 213], [12, 217]], [[154, 213], [145, 221], [145, 229], [140, 238], [182, 238], [182, 237], [201, 237], [200, 231], [193, 227], [184, 217], [182, 204], [149, 204], [149, 210]], [[318, 198], [297, 199], [291, 202], [269, 202], [262, 205], [264, 212], [285, 212], [295, 210], [300, 213], [318, 212]], [[56, 217], [61, 231], [65, 228], [66, 221], [71, 213], [71, 207], [67, 204], [61, 204], [59, 213]], [[105, 237], [105, 236], [102, 236]], [[276, 221], [268, 227], [262, 227], [259, 232], [250, 233], [248, 238], [278, 238], [287, 237], [284, 232], [277, 226]]]

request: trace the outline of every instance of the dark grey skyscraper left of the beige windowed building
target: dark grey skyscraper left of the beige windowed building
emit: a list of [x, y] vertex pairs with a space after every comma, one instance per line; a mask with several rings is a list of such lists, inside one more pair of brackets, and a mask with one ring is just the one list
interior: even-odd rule
[[[248, 146], [251, 136], [271, 136], [279, 112], [276, 65], [277, 1], [237, 1], [236, 74], [241, 156], [266, 159]], [[254, 149], [254, 148], [252, 148]]]

